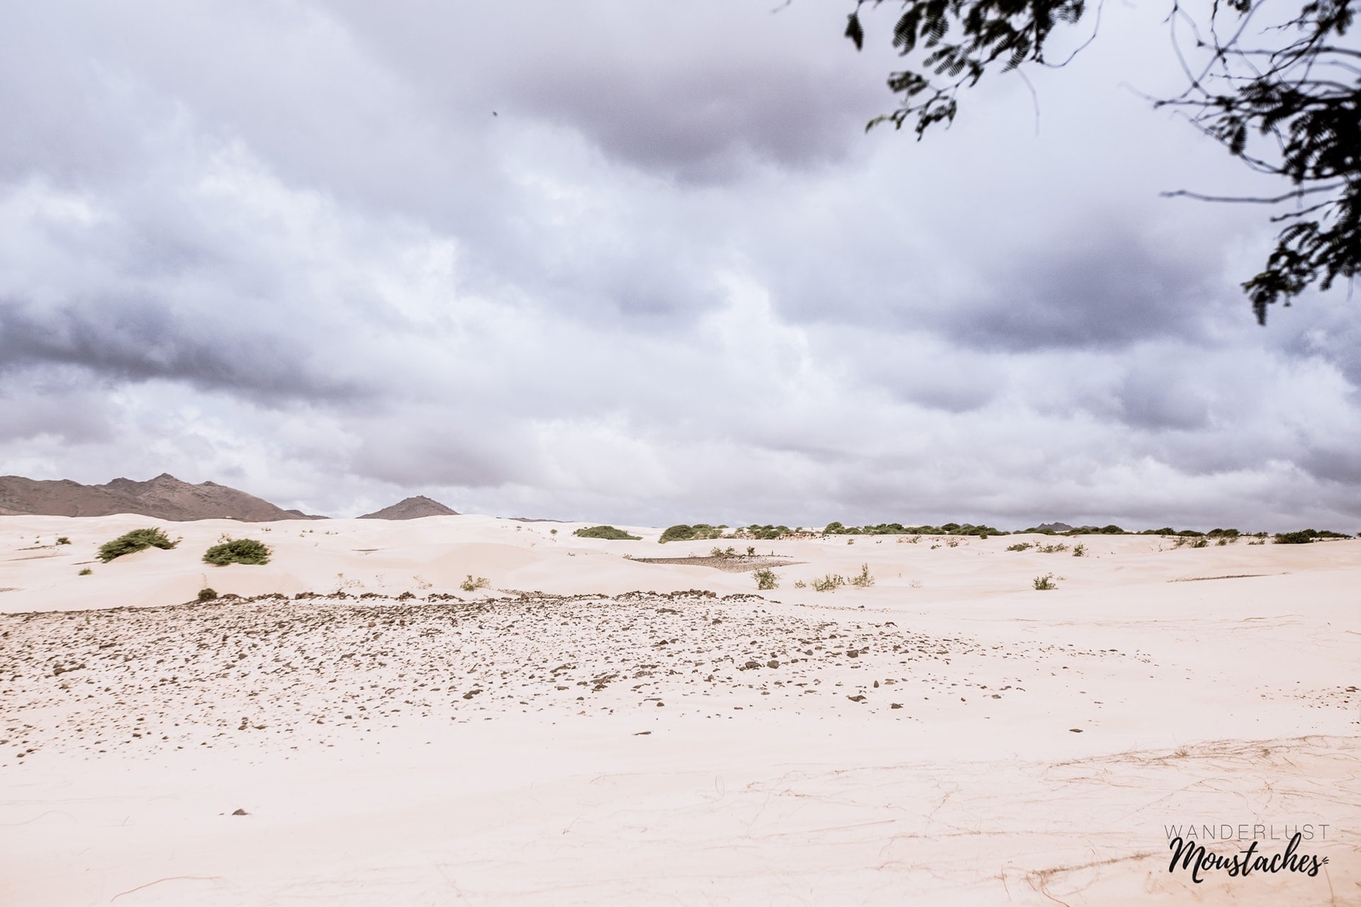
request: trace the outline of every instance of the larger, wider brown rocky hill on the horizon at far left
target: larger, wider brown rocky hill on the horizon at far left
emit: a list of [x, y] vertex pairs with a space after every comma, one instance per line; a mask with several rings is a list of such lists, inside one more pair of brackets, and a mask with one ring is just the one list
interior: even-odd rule
[[0, 476], [0, 514], [45, 517], [108, 517], [142, 514], [158, 519], [325, 519], [298, 510], [282, 510], [268, 500], [214, 481], [192, 485], [170, 473], [147, 481], [114, 479], [103, 485], [82, 485], [61, 479], [44, 481]]

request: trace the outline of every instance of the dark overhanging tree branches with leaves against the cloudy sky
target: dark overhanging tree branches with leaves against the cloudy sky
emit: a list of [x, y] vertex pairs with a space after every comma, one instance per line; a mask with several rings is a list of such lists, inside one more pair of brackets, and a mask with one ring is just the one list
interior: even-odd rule
[[[845, 35], [864, 46], [866, 5], [856, 0]], [[893, 46], [912, 67], [889, 75], [901, 95], [897, 110], [870, 126], [911, 124], [917, 139], [958, 113], [958, 95], [988, 69], [1062, 67], [1077, 52], [1051, 60], [1045, 50], [1062, 27], [1089, 27], [1096, 37], [1100, 4], [1086, 0], [891, 0], [901, 4]], [[1243, 288], [1260, 324], [1267, 306], [1311, 286], [1328, 290], [1361, 268], [1361, 49], [1347, 44], [1354, 0], [1292, 0], [1289, 16], [1259, 0], [1209, 0], [1192, 15], [1172, 0], [1172, 29], [1187, 87], [1154, 106], [1173, 107], [1230, 155], [1290, 188], [1271, 197], [1211, 201], [1293, 204], [1271, 216], [1281, 224], [1266, 267]], [[1268, 19], [1275, 15], [1275, 19]], [[1086, 35], [1086, 33], [1082, 33]]]

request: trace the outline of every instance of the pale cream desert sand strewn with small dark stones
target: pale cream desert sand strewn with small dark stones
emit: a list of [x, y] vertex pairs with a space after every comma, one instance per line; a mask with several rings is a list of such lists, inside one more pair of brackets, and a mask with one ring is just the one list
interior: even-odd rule
[[1358, 541], [580, 525], [0, 518], [0, 903], [1361, 903]]

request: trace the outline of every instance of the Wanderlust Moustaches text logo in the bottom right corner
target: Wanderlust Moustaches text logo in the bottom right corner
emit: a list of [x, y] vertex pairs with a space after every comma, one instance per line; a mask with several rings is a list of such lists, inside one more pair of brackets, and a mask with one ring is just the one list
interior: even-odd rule
[[[1317, 876], [1319, 869], [1328, 862], [1327, 857], [1301, 850], [1304, 842], [1327, 840], [1328, 825], [1326, 824], [1214, 824], [1164, 825], [1162, 828], [1168, 835], [1168, 850], [1172, 851], [1168, 872], [1175, 873], [1179, 869], [1190, 872], [1191, 880], [1196, 884], [1204, 881], [1204, 874], [1210, 872], [1225, 872], [1230, 878], [1244, 878], [1252, 873], [1281, 872]], [[1232, 854], [1215, 853], [1207, 846], [1207, 843], [1214, 842], [1244, 840], [1251, 843]], [[1275, 853], [1259, 850], [1267, 842], [1285, 842], [1285, 849]]]

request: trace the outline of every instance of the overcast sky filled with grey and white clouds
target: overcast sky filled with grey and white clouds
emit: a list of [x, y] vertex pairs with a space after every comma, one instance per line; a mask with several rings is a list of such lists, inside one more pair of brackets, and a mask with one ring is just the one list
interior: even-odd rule
[[1151, 109], [1165, 11], [916, 141], [852, 5], [8, 4], [0, 473], [1361, 530], [1361, 313], [1258, 326], [1266, 212], [1160, 197], [1281, 190]]

